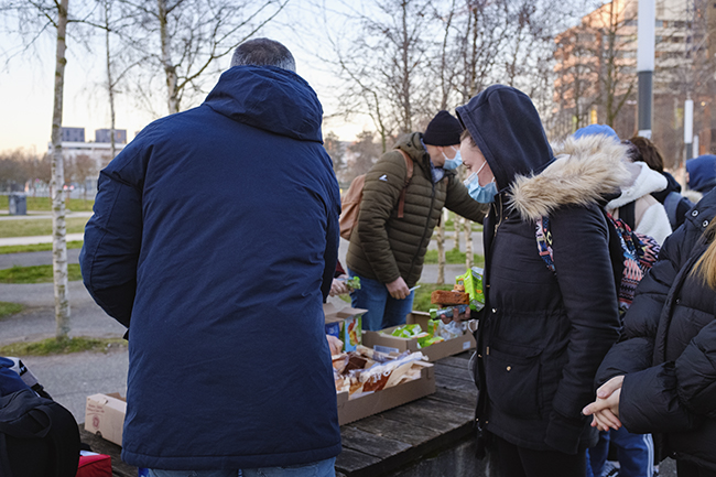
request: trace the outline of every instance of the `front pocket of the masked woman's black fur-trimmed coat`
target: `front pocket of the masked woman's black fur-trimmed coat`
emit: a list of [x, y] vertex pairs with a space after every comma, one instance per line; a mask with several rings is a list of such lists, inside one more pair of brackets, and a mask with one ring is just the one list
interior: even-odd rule
[[485, 362], [487, 392], [498, 411], [522, 419], [541, 418], [541, 353], [528, 347], [490, 347]]

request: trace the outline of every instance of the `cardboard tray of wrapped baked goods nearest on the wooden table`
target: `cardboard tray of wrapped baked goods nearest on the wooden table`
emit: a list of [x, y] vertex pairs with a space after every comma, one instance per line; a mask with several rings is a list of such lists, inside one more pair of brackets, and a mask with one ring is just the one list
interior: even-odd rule
[[338, 423], [340, 425], [369, 415], [378, 414], [398, 405], [423, 398], [435, 392], [435, 369], [430, 362], [422, 364], [420, 379], [386, 388], [382, 391], [348, 399], [348, 392], [339, 392]]

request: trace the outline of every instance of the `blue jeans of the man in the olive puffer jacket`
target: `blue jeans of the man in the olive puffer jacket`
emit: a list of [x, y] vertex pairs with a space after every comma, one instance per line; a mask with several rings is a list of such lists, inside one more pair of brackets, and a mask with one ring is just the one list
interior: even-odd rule
[[[360, 277], [348, 270], [348, 274]], [[354, 308], [368, 310], [362, 316], [362, 328], [371, 332], [390, 326], [405, 324], [405, 316], [413, 311], [415, 292], [410, 292], [403, 300], [395, 300], [388, 293], [384, 283], [360, 277], [360, 290], [350, 292], [350, 304]]]

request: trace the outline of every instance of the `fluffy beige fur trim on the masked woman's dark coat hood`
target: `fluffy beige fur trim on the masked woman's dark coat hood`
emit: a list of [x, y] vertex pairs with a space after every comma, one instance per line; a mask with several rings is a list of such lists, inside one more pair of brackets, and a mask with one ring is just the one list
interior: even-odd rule
[[630, 177], [627, 148], [604, 135], [567, 138], [555, 147], [556, 159], [541, 173], [518, 175], [509, 205], [522, 219], [536, 220], [565, 205], [588, 206], [619, 193]]

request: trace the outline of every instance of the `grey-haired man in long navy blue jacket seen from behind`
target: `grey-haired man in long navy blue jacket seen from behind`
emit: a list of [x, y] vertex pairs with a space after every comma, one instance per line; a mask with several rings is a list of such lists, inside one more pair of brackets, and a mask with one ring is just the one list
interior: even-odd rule
[[155, 476], [334, 475], [340, 198], [294, 69], [282, 44], [243, 43], [202, 106], [100, 173], [83, 280], [129, 328], [122, 459]]

